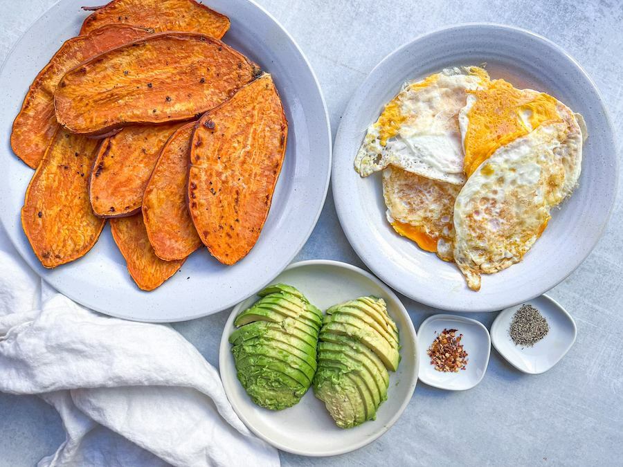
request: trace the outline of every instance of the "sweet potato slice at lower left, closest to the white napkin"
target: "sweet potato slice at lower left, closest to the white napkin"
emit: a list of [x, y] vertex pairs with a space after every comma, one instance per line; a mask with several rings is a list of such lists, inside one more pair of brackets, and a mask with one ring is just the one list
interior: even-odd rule
[[99, 142], [57, 129], [30, 180], [21, 226], [46, 268], [82, 257], [98, 241], [105, 219], [89, 203], [89, 174]]

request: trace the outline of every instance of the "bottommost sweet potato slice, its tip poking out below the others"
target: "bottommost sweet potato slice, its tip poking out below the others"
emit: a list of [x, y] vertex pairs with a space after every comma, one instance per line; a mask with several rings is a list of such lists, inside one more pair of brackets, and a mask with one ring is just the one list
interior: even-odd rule
[[136, 285], [144, 291], [152, 291], [169, 277], [177, 273], [186, 258], [177, 261], [163, 261], [154, 253], [147, 238], [143, 215], [139, 212], [130, 217], [111, 219], [110, 230], [119, 251], [127, 263]]

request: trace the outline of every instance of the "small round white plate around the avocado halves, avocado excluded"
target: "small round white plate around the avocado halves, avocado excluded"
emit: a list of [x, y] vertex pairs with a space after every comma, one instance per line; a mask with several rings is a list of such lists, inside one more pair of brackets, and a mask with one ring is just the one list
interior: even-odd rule
[[400, 336], [398, 371], [390, 372], [388, 399], [377, 419], [348, 430], [338, 428], [325, 405], [309, 388], [294, 407], [272, 412], [255, 405], [237, 380], [228, 338], [236, 329], [233, 321], [259, 297], [249, 297], [233, 309], [225, 324], [219, 350], [219, 367], [225, 392], [240, 419], [260, 438], [276, 448], [306, 456], [331, 456], [350, 452], [374, 441], [397, 421], [411, 399], [417, 382], [417, 341], [409, 315], [388, 286], [360, 268], [336, 261], [312, 260], [291, 264], [271, 284], [295, 286], [323, 311], [329, 306], [363, 295], [383, 297]]

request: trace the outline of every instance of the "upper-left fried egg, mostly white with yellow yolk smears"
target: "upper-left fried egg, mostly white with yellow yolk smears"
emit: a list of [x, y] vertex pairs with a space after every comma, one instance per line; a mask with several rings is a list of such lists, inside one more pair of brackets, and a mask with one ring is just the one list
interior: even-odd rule
[[393, 165], [431, 180], [462, 185], [458, 113], [467, 103], [467, 91], [488, 84], [489, 75], [476, 66], [449, 68], [404, 84], [368, 128], [355, 170], [368, 176]]

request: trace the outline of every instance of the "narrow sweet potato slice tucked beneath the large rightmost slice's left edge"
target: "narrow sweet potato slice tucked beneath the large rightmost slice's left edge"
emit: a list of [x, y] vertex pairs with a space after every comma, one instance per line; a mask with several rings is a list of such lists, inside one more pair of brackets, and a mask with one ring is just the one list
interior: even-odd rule
[[143, 220], [156, 255], [166, 261], [186, 258], [201, 246], [186, 205], [190, 140], [195, 123], [169, 138], [143, 195]]

